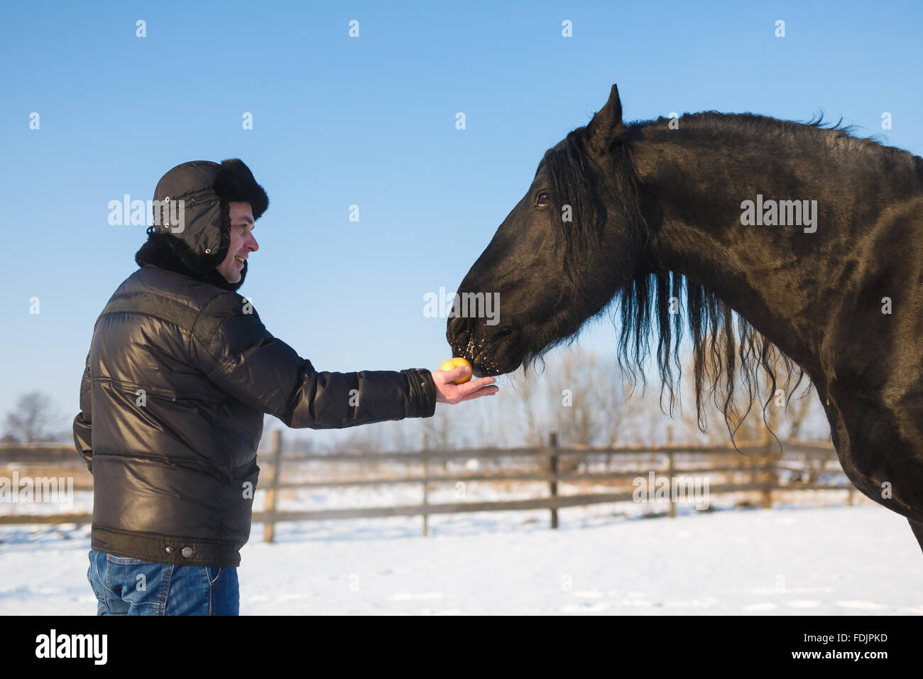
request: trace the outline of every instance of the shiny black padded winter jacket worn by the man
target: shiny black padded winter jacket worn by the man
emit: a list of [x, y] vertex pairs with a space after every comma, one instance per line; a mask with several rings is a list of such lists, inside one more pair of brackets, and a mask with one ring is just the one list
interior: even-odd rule
[[94, 550], [237, 566], [263, 414], [293, 428], [427, 418], [429, 370], [318, 372], [236, 292], [155, 266], [96, 321], [74, 441], [93, 474]]

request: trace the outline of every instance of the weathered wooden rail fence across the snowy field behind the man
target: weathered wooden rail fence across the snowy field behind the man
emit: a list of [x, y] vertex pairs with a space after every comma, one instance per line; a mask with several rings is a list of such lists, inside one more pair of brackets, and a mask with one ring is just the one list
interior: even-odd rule
[[[270, 450], [260, 453], [259, 464], [262, 467], [260, 489], [265, 491], [265, 508], [253, 514], [255, 522], [261, 522], [263, 540], [271, 542], [275, 538], [275, 525], [285, 521], [317, 521], [330, 519], [353, 519], [383, 516], [421, 516], [423, 534], [429, 532], [431, 515], [462, 514], [469, 512], [495, 512], [546, 509], [550, 512], [552, 528], [557, 528], [557, 513], [563, 507], [575, 507], [597, 503], [632, 502], [636, 491], [622, 490], [618, 486], [638, 485], [638, 479], [648, 479], [655, 475], [665, 475], [673, 479], [711, 478], [713, 475], [731, 475], [733, 481], [725, 481], [716, 486], [709, 484], [708, 495], [725, 493], [753, 492], [761, 497], [761, 506], [773, 505], [773, 491], [847, 491], [847, 501], [853, 503], [855, 489], [845, 479], [838, 464], [831, 470], [831, 463], [837, 458], [829, 443], [793, 443], [784, 444], [784, 454], [779, 455], [778, 446], [773, 450], [766, 443], [748, 443], [731, 447], [710, 446], [629, 446], [629, 447], [594, 447], [571, 446], [561, 448], [557, 445], [557, 434], [552, 433], [548, 445], [538, 448], [481, 448], [466, 450], [429, 450], [424, 440], [421, 451], [411, 453], [336, 453], [318, 454], [282, 454], [282, 432], [270, 432]], [[49, 463], [70, 460], [78, 455], [73, 448], [66, 447], [0, 447], [0, 465], [6, 462]], [[640, 458], [646, 456], [646, 463]], [[654, 465], [654, 458], [658, 464]], [[703, 458], [708, 458], [703, 460]], [[79, 459], [79, 458], [78, 458]], [[503, 463], [509, 466], [511, 460], [524, 460], [514, 466], [512, 473], [479, 472], [470, 470], [450, 470], [449, 463], [454, 460], [476, 461], [475, 467], [484, 464]], [[629, 460], [635, 465], [626, 462]], [[348, 478], [312, 481], [283, 481], [283, 466], [298, 463], [319, 463], [320, 465], [342, 465], [352, 463], [363, 469], [375, 469], [383, 464], [397, 463], [405, 473], [388, 478]], [[439, 464], [441, 463], [441, 465]], [[613, 464], [617, 470], [613, 470]], [[685, 463], [685, 464], [684, 464]], [[707, 464], [706, 464], [707, 463]], [[690, 466], [691, 465], [691, 466]], [[270, 467], [267, 469], [266, 467]], [[410, 474], [412, 468], [422, 470], [422, 475]], [[441, 473], [439, 467], [441, 467]], [[526, 467], [522, 471], [522, 467]], [[531, 468], [530, 468], [531, 467]], [[593, 470], [593, 467], [604, 467]], [[642, 467], [642, 468], [641, 468]], [[780, 473], [800, 475], [797, 481], [780, 481]], [[823, 482], [821, 475], [833, 476], [836, 482]], [[745, 479], [739, 479], [739, 477]], [[663, 477], [657, 477], [661, 479]], [[268, 483], [265, 483], [266, 480]], [[634, 479], [632, 481], [632, 479]], [[463, 484], [470, 482], [528, 482], [539, 481], [547, 484], [547, 495], [521, 500], [499, 500], [488, 502], [452, 502], [431, 503], [430, 491], [440, 484]], [[571, 485], [593, 484], [614, 485], [610, 492], [559, 493], [559, 483]], [[352, 507], [337, 509], [283, 510], [280, 508], [280, 491], [285, 489], [318, 489], [369, 487], [384, 485], [416, 484], [422, 488], [422, 502], [413, 504], [393, 504], [390, 506]], [[92, 483], [75, 483], [74, 491], [91, 491]], [[676, 516], [677, 503], [668, 504], [667, 513]], [[0, 515], [0, 524], [86, 524], [92, 521], [92, 515], [83, 514], [37, 514], [37, 515]]]

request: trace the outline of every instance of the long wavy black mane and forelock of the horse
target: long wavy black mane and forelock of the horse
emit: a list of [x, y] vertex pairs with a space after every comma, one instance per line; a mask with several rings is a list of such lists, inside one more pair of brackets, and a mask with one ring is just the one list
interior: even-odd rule
[[[725, 122], [716, 117], [721, 114], [698, 116], [701, 117], [692, 116], [696, 118], [694, 125]], [[684, 123], [688, 118], [683, 118]], [[660, 120], [666, 123], [665, 118]], [[768, 121], [775, 119], [760, 118], [752, 122], [769, 125]], [[641, 181], [631, 159], [629, 143], [637, 134], [637, 125], [640, 124], [633, 124], [632, 127], [621, 125], [617, 129], [617, 139], [609, 153], [611, 165], [608, 174], [614, 178], [614, 183], [606, 187], [601, 182], [599, 168], [594, 166], [586, 152], [586, 127], [573, 130], [563, 142], [545, 153], [543, 164], [547, 167], [552, 200], [559, 201], [556, 212], [561, 214], [563, 203], [569, 204], [572, 209], [572, 221], [567, 224], [562, 222], [558, 226], [565, 244], [565, 272], [578, 284], [587, 282], [581, 279], [582, 276], [593, 275], [581, 271], [581, 253], [593, 248], [605, 229], [606, 207], [601, 198], [604, 193], [609, 199], [608, 203], [615, 205], [621, 213], [634, 243], [643, 244], [649, 237]], [[821, 121], [818, 120], [810, 127], [816, 129], [820, 125]], [[714, 131], [715, 134], [722, 133], [717, 127]], [[848, 130], [840, 131], [846, 134]], [[614, 262], [614, 265], [631, 266], [632, 262]], [[680, 305], [685, 307], [685, 314], [670, 313], [671, 297], [676, 297]], [[713, 399], [714, 405], [724, 414], [733, 441], [754, 400], [761, 394], [761, 373], [768, 378], [770, 387], [769, 396], [762, 404], [764, 422], [766, 407], [777, 386], [781, 383], [786, 394], [791, 395], [805, 377], [803, 370], [791, 358], [754, 330], [748, 321], [737, 315], [706, 285], [691, 281], [681, 274], [663, 268], [656, 273], [639, 273], [628, 285], [617, 291], [609, 309], [613, 309], [620, 319], [618, 367], [631, 382], [641, 383], [642, 389], [646, 384], [644, 362], [650, 355], [655, 339], [656, 352], [653, 358], [661, 382], [661, 407], [664, 408], [664, 396], [667, 395], [668, 408], [665, 412], [671, 416], [682, 373], [679, 346], [684, 334], [689, 333], [697, 423], [702, 431], [707, 424], [704, 408], [707, 396]], [[551, 346], [558, 344], [560, 341]], [[546, 346], [541, 353], [544, 354], [548, 348], [550, 346]], [[529, 358], [531, 362], [537, 357]], [[741, 396], [742, 403], [738, 403]]]

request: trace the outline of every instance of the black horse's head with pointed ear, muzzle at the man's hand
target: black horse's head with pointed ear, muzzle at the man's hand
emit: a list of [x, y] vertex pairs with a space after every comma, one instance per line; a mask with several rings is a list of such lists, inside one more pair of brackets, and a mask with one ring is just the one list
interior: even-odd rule
[[529, 190], [465, 275], [446, 338], [475, 375], [528, 367], [641, 270], [644, 220], [625, 131], [613, 85], [589, 125], [545, 152]]

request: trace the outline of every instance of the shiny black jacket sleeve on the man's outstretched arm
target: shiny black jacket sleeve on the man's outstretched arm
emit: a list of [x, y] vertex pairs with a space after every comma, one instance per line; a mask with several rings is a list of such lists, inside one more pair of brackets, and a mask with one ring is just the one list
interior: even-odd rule
[[213, 298], [193, 326], [191, 355], [208, 378], [294, 429], [342, 429], [436, 411], [426, 369], [319, 372], [273, 337], [236, 293]]

